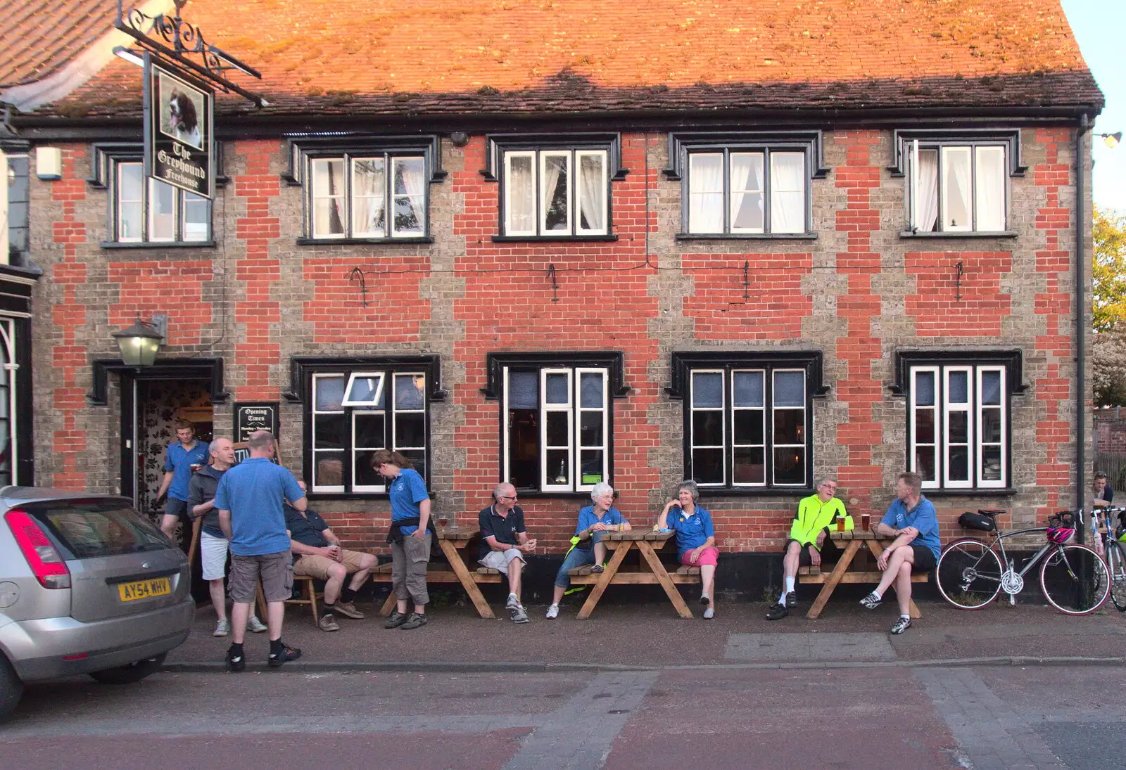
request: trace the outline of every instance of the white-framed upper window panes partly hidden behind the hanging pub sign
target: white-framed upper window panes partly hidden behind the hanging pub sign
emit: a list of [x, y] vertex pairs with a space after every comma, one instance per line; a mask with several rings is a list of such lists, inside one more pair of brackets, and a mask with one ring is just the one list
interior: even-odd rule
[[159, 179], [138, 161], [110, 161], [109, 241], [180, 243], [211, 239], [211, 202]]

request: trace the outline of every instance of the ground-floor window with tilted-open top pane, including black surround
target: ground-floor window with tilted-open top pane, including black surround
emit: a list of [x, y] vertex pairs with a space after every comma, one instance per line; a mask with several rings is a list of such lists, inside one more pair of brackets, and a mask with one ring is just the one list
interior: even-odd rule
[[382, 494], [372, 467], [377, 449], [401, 453], [429, 480], [430, 403], [437, 357], [295, 358], [297, 392], [305, 402], [305, 480], [316, 494]]

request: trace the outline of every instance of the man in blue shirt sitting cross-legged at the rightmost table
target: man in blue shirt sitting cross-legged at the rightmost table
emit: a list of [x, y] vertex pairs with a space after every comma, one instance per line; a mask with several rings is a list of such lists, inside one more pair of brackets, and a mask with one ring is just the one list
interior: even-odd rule
[[935, 507], [922, 496], [922, 478], [917, 473], [901, 473], [895, 480], [895, 501], [873, 531], [895, 538], [876, 559], [884, 575], [876, 590], [860, 600], [876, 609], [884, 592], [894, 582], [900, 617], [892, 625], [893, 634], [911, 627], [911, 573], [929, 572], [938, 564], [941, 543], [938, 539], [938, 516]]

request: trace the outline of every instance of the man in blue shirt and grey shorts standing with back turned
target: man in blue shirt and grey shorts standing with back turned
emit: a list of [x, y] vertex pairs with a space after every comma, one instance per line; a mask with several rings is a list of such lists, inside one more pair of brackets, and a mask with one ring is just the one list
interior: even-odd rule
[[305, 491], [288, 469], [270, 462], [274, 433], [256, 430], [247, 445], [250, 457], [223, 474], [215, 491], [220, 527], [231, 541], [231, 600], [235, 602], [231, 608], [234, 641], [226, 651], [226, 666], [231, 671], [247, 668], [242, 639], [259, 579], [266, 594], [266, 624], [270, 632], [270, 654], [266, 662], [277, 668], [301, 657], [300, 650], [287, 647], [282, 641], [283, 602], [293, 593], [289, 535], [282, 504], [283, 500], [289, 500], [295, 509], [304, 511]]

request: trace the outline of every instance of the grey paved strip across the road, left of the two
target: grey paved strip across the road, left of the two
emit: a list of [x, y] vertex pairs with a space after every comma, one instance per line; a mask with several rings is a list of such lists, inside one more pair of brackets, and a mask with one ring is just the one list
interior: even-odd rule
[[524, 738], [503, 770], [595, 770], [656, 681], [656, 671], [600, 673]]

